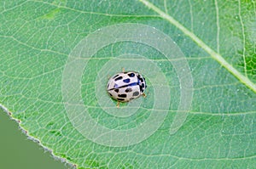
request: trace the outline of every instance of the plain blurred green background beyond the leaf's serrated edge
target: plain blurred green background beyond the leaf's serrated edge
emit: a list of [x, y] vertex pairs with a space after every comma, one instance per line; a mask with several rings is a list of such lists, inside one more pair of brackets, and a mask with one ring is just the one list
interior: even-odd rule
[[2, 169], [67, 169], [49, 152], [28, 140], [15, 121], [0, 108], [0, 168]]

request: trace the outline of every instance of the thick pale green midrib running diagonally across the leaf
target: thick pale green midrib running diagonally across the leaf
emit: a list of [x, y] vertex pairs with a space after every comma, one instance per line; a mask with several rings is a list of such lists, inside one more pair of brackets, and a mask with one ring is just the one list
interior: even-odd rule
[[148, 8], [151, 8], [156, 12], [157, 14], [160, 14], [160, 17], [164, 20], [169, 21], [172, 25], [175, 25], [179, 30], [183, 31], [185, 35], [190, 37], [194, 42], [197, 43], [198, 46], [200, 46], [202, 49], [204, 49], [208, 54], [211, 55], [212, 59], [215, 59], [220, 65], [222, 65], [226, 70], [230, 71], [230, 73], [233, 76], [236, 76], [236, 78], [246, 85], [248, 88], [250, 88], [254, 93], [256, 93], [256, 85], [250, 81], [250, 79], [247, 78], [247, 76], [243, 76], [241, 72], [236, 70], [232, 65], [230, 65], [220, 54], [216, 53], [212, 48], [210, 48], [205, 42], [203, 42], [199, 37], [196, 37], [195, 34], [191, 31], [189, 31], [185, 26], [180, 24], [177, 20], [172, 18], [169, 14], [166, 14], [163, 12], [160, 8], [157, 8], [154, 6], [153, 3], [149, 3], [147, 0], [139, 0], [144, 5], [146, 5]]

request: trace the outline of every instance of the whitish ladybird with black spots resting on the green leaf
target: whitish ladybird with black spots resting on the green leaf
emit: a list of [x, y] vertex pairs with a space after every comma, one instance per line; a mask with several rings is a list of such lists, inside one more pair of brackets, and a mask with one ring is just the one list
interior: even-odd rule
[[145, 96], [146, 87], [147, 85], [142, 75], [135, 71], [126, 71], [110, 77], [107, 91], [112, 99], [118, 102], [129, 102], [142, 95]]

